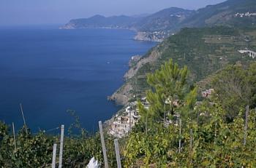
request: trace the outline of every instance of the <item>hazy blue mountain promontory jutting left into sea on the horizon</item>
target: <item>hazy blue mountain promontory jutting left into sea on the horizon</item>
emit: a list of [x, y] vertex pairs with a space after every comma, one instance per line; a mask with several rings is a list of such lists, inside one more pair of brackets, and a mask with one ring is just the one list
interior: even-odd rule
[[128, 28], [143, 32], [167, 31], [193, 13], [195, 11], [171, 7], [152, 15], [133, 15], [131, 17], [124, 15], [113, 17], [95, 15], [85, 19], [70, 20], [69, 23], [61, 28]]

